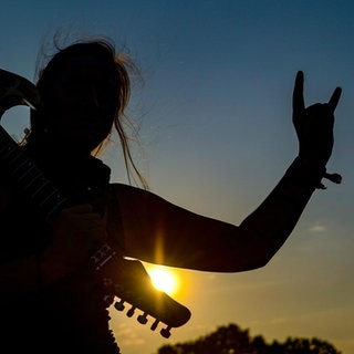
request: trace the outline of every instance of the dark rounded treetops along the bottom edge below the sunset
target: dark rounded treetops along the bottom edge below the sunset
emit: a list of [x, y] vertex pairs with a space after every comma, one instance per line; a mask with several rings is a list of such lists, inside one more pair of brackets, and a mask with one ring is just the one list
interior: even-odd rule
[[196, 341], [162, 346], [157, 354], [341, 354], [332, 344], [313, 339], [288, 337], [267, 344], [261, 335], [250, 337], [249, 330], [237, 324], [219, 326]]

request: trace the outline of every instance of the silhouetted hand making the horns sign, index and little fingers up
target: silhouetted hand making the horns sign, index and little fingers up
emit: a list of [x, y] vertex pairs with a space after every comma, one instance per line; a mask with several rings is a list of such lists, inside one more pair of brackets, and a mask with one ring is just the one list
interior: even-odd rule
[[311, 164], [325, 166], [332, 155], [334, 111], [342, 88], [334, 90], [329, 103], [316, 103], [305, 107], [303, 81], [303, 72], [299, 71], [293, 91], [292, 116], [299, 139], [299, 157]]

